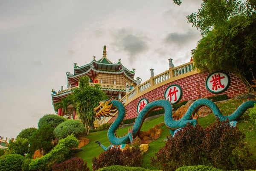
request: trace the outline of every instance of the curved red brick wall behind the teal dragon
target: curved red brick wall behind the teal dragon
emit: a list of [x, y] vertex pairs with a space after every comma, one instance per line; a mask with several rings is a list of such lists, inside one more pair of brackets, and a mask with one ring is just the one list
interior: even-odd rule
[[[247, 91], [244, 83], [233, 73], [226, 72], [230, 76], [230, 86], [222, 93], [214, 94], [209, 92], [205, 86], [206, 79], [211, 72], [201, 72], [195, 75], [191, 75], [179, 80], [173, 81], [171, 83], [165, 84], [157, 89], [154, 89], [143, 96], [131, 101], [127, 105], [127, 116], [125, 119], [131, 119], [137, 117], [137, 104], [142, 98], [148, 99], [148, 102], [152, 102], [157, 98], [163, 98], [166, 88], [172, 84], [177, 84], [182, 90], [181, 101], [197, 99], [201, 97], [210, 97], [221, 94], [227, 94], [229, 98], [233, 98], [243, 92]], [[239, 91], [238, 91], [239, 90]], [[115, 117], [116, 118], [116, 117]], [[112, 119], [111, 119], [112, 120]]]

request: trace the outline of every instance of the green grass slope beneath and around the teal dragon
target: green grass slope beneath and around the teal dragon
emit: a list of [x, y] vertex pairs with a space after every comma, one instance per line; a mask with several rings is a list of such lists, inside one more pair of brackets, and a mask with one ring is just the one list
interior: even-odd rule
[[[235, 107], [239, 106], [239, 103], [241, 104], [242, 101], [230, 100], [228, 102], [218, 103], [217, 105], [221, 106], [221, 110], [224, 110], [223, 114], [228, 114], [228, 113], [232, 113], [232, 111], [235, 110]], [[202, 125], [204, 128], [214, 121], [215, 121], [215, 116], [213, 114], [210, 114], [206, 117], [198, 119], [198, 123]], [[156, 119], [151, 119], [150, 121], [143, 123], [141, 130], [148, 130], [149, 128], [152, 128], [154, 125], [157, 125], [161, 122], [163, 122], [163, 116], [160, 116], [159, 118], [156, 118]], [[254, 159], [256, 159], [256, 139], [255, 139], [256, 129], [254, 128], [255, 127], [254, 123], [250, 120], [248, 111], [245, 112], [244, 115], [238, 119], [238, 127], [242, 132], [246, 134], [245, 142], [250, 143], [250, 151], [253, 153]], [[170, 134], [169, 130], [166, 128], [165, 125], [161, 126], [160, 128], [163, 129], [163, 132], [160, 138], [151, 142], [149, 144], [150, 148], [148, 152], [144, 154], [143, 168], [157, 169], [150, 165], [150, 157], [154, 157], [154, 154], [165, 145], [165, 142], [163, 142], [163, 139], [166, 139], [166, 136], [169, 136]], [[121, 136], [127, 132], [128, 132], [128, 128], [122, 128], [117, 131], [117, 135]], [[107, 133], [108, 133], [107, 130], [90, 133], [90, 135], [86, 136], [86, 138], [90, 139], [90, 143], [82, 147], [83, 151], [76, 154], [76, 157], [81, 157], [82, 159], [84, 159], [84, 161], [87, 162], [87, 165], [90, 169], [92, 165], [92, 158], [94, 156], [99, 157], [99, 154], [103, 152], [103, 149], [98, 147], [98, 145], [94, 143], [94, 141], [101, 141], [102, 144], [105, 146], [110, 145], [110, 142], [108, 141]]]

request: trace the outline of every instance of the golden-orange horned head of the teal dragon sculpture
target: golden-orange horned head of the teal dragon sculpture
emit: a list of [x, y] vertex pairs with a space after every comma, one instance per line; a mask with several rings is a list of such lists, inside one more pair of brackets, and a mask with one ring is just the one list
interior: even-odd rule
[[116, 107], [112, 107], [113, 103], [110, 103], [113, 98], [109, 98], [104, 101], [99, 102], [99, 106], [94, 108], [94, 112], [96, 113], [96, 118], [100, 119], [102, 116], [112, 116], [111, 113], [116, 113]]

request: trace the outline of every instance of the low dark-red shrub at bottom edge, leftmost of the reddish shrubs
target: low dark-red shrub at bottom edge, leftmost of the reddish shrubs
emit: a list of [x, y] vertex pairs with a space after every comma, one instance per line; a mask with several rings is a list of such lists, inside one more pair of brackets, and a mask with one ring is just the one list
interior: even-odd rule
[[89, 171], [87, 163], [81, 158], [71, 158], [65, 162], [55, 163], [52, 171]]

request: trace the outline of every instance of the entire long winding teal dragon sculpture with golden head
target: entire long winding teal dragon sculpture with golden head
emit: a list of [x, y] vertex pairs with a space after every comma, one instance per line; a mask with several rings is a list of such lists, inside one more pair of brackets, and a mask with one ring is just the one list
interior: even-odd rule
[[[256, 101], [245, 101], [230, 116], [224, 116], [224, 115], [222, 115], [218, 106], [211, 100], [198, 99], [189, 107], [189, 109], [186, 111], [186, 113], [180, 120], [174, 120], [172, 118], [172, 113], [173, 113], [172, 104], [170, 104], [170, 102], [167, 100], [156, 100], [156, 101], [153, 101], [153, 102], [147, 104], [143, 108], [143, 110], [141, 110], [141, 112], [137, 116], [134, 126], [130, 130], [128, 130], [127, 135], [122, 136], [122, 137], [116, 136], [116, 130], [121, 126], [122, 121], [127, 114], [127, 109], [120, 101], [113, 100], [113, 98], [110, 98], [105, 101], [101, 101], [99, 103], [99, 106], [94, 108], [94, 111], [96, 112], [96, 118], [100, 119], [102, 116], [107, 116], [107, 117], [112, 116], [111, 113], [112, 114], [116, 113], [118, 110], [118, 116], [108, 130], [108, 139], [109, 139], [110, 143], [112, 144], [109, 147], [113, 147], [113, 146], [118, 146], [118, 145], [122, 146], [128, 142], [133, 143], [133, 139], [140, 132], [140, 128], [142, 127], [143, 122], [144, 122], [146, 116], [148, 115], [148, 113], [157, 108], [164, 108], [164, 123], [165, 123], [166, 127], [169, 128], [171, 135], [173, 135], [174, 131], [176, 129], [183, 128], [188, 123], [195, 126], [197, 124], [197, 117], [196, 117], [195, 113], [202, 106], [209, 107], [212, 110], [215, 117], [218, 117], [220, 119], [220, 121], [225, 121], [227, 119], [229, 121], [235, 121], [241, 115], [243, 115], [243, 113], [248, 108], [254, 107], [254, 104], [256, 104]], [[101, 144], [101, 142], [96, 141], [96, 143], [98, 143], [99, 146], [101, 146], [104, 150], [108, 149], [105, 146], [103, 146]]]

